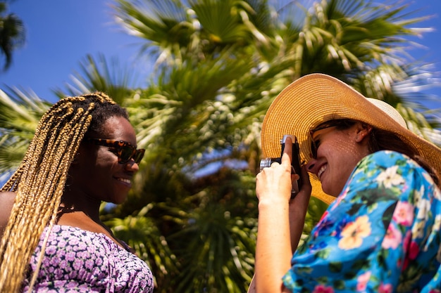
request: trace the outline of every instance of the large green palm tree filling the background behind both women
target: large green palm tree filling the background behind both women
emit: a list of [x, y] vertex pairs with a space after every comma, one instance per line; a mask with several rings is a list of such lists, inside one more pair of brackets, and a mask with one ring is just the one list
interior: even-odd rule
[[[418, 33], [408, 27], [422, 19], [403, 17], [399, 4], [309, 2], [118, 0], [118, 22], [155, 60], [149, 86], [134, 88], [91, 57], [68, 86], [68, 93], [115, 95], [147, 149], [129, 200], [103, 207], [103, 217], [149, 262], [158, 292], [246, 291], [261, 121], [292, 80], [332, 74], [395, 105], [415, 131], [440, 141], [439, 125], [402, 94], [424, 82], [425, 72], [404, 53], [404, 37]], [[2, 113], [6, 107], [0, 103]], [[0, 129], [11, 128], [7, 119]], [[325, 207], [311, 200], [305, 234]]]

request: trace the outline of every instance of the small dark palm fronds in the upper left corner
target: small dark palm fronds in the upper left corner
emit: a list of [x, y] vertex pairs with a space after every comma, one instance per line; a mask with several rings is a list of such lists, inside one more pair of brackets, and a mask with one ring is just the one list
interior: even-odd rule
[[25, 41], [25, 27], [17, 15], [5, 15], [7, 4], [0, 2], [0, 53], [4, 55], [4, 70], [12, 63], [12, 53], [16, 48], [23, 46]]

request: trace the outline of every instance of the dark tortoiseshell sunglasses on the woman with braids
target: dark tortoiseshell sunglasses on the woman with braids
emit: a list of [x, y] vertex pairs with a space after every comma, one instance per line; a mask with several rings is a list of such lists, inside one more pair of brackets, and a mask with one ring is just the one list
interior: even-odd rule
[[125, 164], [134, 159], [135, 163], [139, 164], [142, 157], [144, 157], [145, 150], [140, 148], [137, 150], [131, 143], [127, 141], [113, 141], [111, 139], [104, 138], [85, 138], [86, 141], [94, 143], [96, 145], [104, 145], [116, 150], [115, 154], [118, 156], [118, 163]]

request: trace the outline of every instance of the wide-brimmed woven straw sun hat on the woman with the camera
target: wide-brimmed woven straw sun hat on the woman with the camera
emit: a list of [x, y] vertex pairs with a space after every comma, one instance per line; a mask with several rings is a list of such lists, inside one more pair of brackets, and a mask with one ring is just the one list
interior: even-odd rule
[[[409, 131], [395, 108], [381, 100], [365, 98], [339, 79], [318, 73], [297, 79], [273, 100], [262, 124], [263, 156], [279, 157], [280, 138], [292, 134], [299, 141], [300, 161], [308, 162], [309, 131], [333, 119], [354, 119], [394, 132], [441, 174], [441, 149]], [[310, 178], [313, 196], [328, 204], [335, 200], [323, 192], [315, 175]]]

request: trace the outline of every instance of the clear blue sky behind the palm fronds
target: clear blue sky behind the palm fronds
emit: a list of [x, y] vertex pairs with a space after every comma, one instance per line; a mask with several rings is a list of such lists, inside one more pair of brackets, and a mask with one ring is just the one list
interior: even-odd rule
[[[141, 77], [137, 82], [142, 82], [150, 71], [146, 65], [143, 68], [134, 62], [139, 39], [121, 32], [111, 15], [111, 3], [111, 0], [13, 1], [9, 12], [17, 14], [25, 23], [27, 41], [23, 48], [15, 51], [11, 69], [0, 73], [0, 89], [16, 86], [53, 100], [51, 89], [72, 84], [70, 75], [80, 70], [80, 61], [87, 54], [97, 57], [99, 53], [107, 60], [118, 58], [121, 65], [137, 72]], [[441, 1], [406, 0], [404, 3], [411, 3], [412, 10], [421, 8], [419, 15], [434, 15], [419, 25], [436, 29], [423, 34], [423, 39], [416, 39], [426, 47], [409, 53], [435, 63], [436, 70], [441, 72]], [[430, 92], [441, 96], [441, 88]]]

